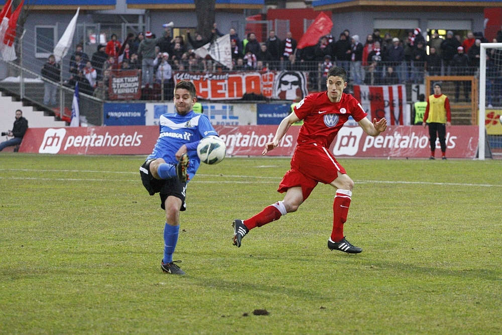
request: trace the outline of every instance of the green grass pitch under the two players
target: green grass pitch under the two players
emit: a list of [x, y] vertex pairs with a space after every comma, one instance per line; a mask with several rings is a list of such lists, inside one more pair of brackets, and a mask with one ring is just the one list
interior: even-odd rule
[[322, 184], [232, 246], [232, 219], [282, 199], [290, 160], [203, 164], [172, 276], [144, 159], [0, 155], [0, 334], [502, 332], [500, 161], [340, 159], [359, 255], [327, 249]]

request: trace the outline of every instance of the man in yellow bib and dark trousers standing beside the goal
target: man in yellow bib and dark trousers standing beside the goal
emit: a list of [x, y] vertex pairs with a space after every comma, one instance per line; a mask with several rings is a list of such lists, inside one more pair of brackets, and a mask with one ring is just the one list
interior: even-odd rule
[[446, 159], [446, 126], [451, 127], [450, 100], [441, 93], [441, 83], [434, 83], [434, 94], [427, 98], [427, 108], [424, 115], [424, 128], [429, 125], [429, 136], [431, 142], [431, 157], [434, 158], [436, 150], [436, 133], [441, 144], [441, 158]]

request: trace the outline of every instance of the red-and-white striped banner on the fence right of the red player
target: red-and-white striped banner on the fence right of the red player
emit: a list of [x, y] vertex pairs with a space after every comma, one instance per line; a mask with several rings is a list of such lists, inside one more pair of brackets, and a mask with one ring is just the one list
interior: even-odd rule
[[386, 118], [389, 125], [410, 124], [410, 115], [405, 113], [406, 85], [354, 85], [354, 97], [370, 120]]

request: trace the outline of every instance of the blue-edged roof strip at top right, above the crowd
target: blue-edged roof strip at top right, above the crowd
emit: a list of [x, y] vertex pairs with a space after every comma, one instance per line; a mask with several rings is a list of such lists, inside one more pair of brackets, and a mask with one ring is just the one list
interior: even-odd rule
[[315, 0], [312, 6], [316, 11], [325, 10], [452, 10], [472, 11], [486, 7], [502, 7], [500, 0]]

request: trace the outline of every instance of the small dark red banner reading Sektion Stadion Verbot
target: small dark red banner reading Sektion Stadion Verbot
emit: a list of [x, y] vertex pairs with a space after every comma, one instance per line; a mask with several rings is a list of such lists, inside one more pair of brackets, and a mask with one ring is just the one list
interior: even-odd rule
[[111, 71], [108, 96], [110, 100], [141, 99], [141, 70]]

